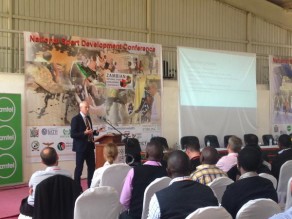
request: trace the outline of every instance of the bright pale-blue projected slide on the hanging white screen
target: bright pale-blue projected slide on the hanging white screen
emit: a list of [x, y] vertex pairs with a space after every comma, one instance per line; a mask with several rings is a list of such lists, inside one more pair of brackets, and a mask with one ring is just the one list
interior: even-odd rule
[[179, 51], [182, 105], [256, 107], [254, 54], [189, 48]]

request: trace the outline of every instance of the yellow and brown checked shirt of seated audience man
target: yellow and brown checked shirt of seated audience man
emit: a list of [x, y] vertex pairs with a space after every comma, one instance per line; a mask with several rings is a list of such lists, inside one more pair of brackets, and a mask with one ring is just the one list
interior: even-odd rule
[[216, 167], [215, 165], [202, 164], [197, 166], [196, 171], [191, 174], [192, 180], [199, 182], [201, 184], [207, 185], [212, 182], [215, 178], [220, 176], [226, 176], [227, 174]]

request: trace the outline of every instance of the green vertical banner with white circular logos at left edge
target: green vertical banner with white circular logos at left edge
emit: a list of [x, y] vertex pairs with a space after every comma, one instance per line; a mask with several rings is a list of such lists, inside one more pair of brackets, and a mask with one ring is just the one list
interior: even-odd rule
[[22, 182], [21, 96], [0, 93], [0, 186]]

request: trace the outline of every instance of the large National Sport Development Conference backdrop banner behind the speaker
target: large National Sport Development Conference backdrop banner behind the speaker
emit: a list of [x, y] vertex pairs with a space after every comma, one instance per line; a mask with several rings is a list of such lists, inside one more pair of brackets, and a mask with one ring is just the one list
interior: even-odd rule
[[43, 147], [74, 159], [71, 118], [90, 103], [94, 128], [137, 138], [161, 134], [161, 45], [24, 33], [27, 155]]

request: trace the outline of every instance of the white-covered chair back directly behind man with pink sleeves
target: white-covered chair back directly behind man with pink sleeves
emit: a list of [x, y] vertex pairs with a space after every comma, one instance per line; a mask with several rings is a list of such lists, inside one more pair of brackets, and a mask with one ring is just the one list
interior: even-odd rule
[[154, 195], [155, 192], [158, 192], [161, 189], [166, 188], [171, 179], [167, 176], [157, 178], [153, 182], [151, 182], [145, 189], [144, 192], [144, 199], [143, 199], [143, 211], [141, 219], [146, 219], [149, 212], [149, 202], [151, 197]]

